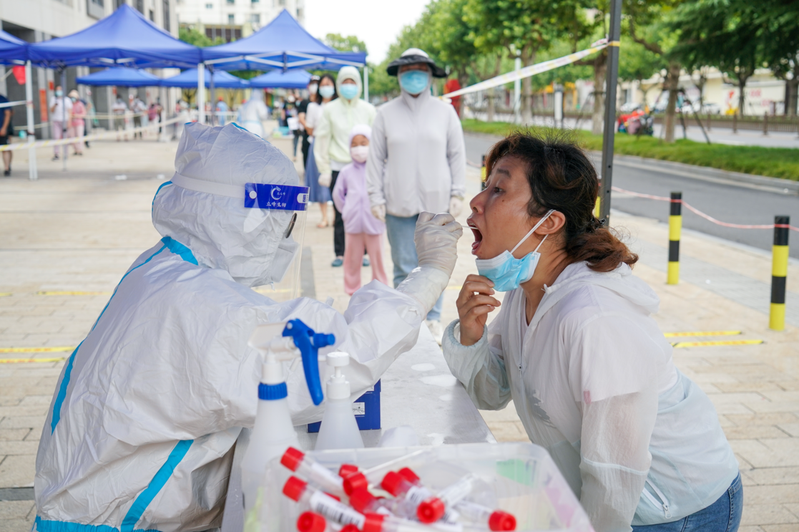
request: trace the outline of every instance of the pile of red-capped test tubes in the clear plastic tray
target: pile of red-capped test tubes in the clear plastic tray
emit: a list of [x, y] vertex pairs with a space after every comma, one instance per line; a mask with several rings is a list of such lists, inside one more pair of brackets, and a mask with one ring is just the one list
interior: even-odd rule
[[[295, 474], [283, 486], [283, 494], [301, 505], [303, 512], [297, 520], [297, 530], [516, 530], [516, 518], [512, 514], [468, 500], [479, 481], [475, 475], [468, 474], [438, 492], [426, 488], [411, 469], [414, 464], [423, 462], [425, 454], [424, 450], [415, 451], [363, 471], [354, 465], [344, 464], [336, 475], [302, 451], [290, 447], [280, 463]], [[372, 493], [378, 490], [391, 497], [379, 497]]]

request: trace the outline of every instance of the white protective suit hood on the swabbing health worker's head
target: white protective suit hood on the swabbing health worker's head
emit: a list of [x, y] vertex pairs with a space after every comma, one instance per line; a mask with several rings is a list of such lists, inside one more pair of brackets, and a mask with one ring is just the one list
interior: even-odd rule
[[237, 282], [279, 281], [283, 235], [292, 212], [244, 207], [245, 183], [299, 185], [294, 165], [280, 150], [234, 124], [188, 124], [175, 156], [175, 173], [190, 179], [241, 186], [242, 197], [197, 192], [171, 182], [156, 192], [153, 225], [187, 246], [198, 263], [226, 270]]

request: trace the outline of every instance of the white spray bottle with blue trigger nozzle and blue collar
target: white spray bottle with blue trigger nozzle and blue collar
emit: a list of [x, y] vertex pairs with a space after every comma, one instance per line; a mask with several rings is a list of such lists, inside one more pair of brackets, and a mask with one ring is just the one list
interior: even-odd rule
[[267, 463], [291, 447], [299, 447], [289, 412], [288, 388], [283, 362], [302, 358], [305, 382], [315, 405], [322, 402], [319, 379], [319, 349], [333, 345], [332, 334], [314, 332], [300, 320], [261, 325], [250, 336], [250, 347], [263, 354], [263, 373], [258, 385], [258, 412], [249, 446], [241, 462], [244, 509], [248, 512], [257, 500]]

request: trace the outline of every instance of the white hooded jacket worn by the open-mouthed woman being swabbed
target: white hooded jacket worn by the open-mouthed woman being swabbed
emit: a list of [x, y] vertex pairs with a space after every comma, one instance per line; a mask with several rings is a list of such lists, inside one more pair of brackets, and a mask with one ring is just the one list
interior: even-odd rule
[[444, 356], [475, 405], [513, 399], [597, 532], [714, 503], [738, 463], [710, 399], [674, 367], [652, 289], [626, 264], [597, 273], [575, 263], [545, 292], [529, 326], [518, 288], [476, 344], [460, 344], [457, 321], [447, 328]]

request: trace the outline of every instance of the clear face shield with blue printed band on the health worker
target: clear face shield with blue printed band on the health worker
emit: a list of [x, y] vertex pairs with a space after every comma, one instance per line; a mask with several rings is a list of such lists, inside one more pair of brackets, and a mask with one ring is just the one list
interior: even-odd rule
[[[299, 297], [308, 187], [273, 183], [231, 185], [181, 174], [175, 174], [172, 182], [186, 191], [231, 198], [228, 202], [234, 208], [220, 221], [236, 227], [220, 229], [231, 237], [237, 235], [236, 250], [231, 248], [230, 253], [224, 253], [227, 269], [234, 279], [278, 302]], [[223, 248], [225, 244], [220, 242]]]

